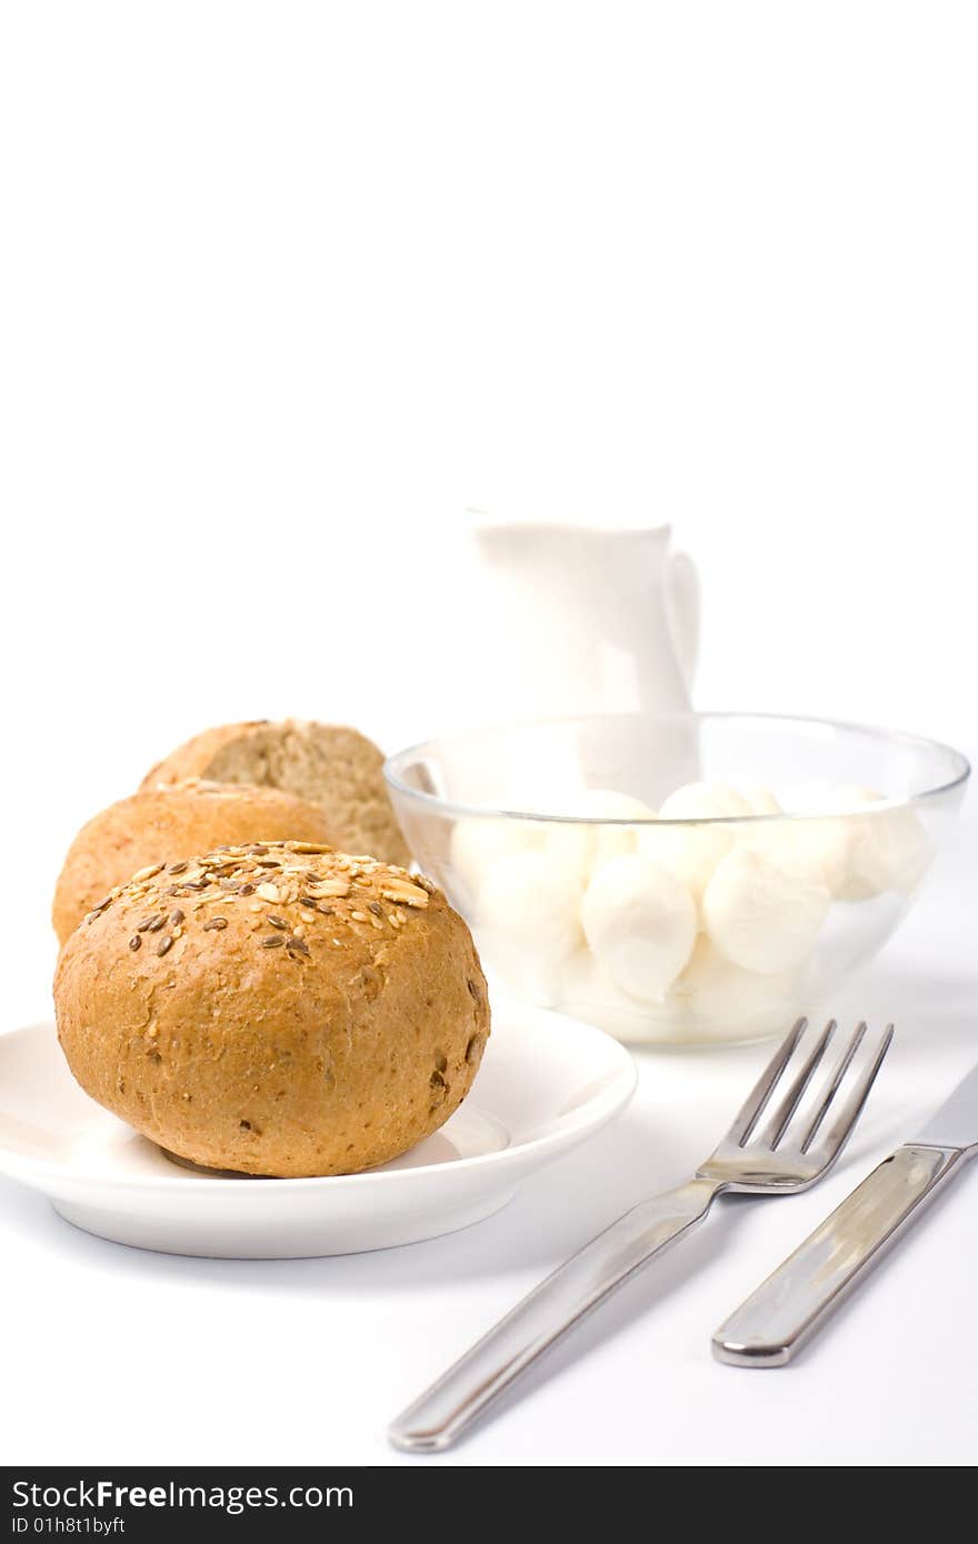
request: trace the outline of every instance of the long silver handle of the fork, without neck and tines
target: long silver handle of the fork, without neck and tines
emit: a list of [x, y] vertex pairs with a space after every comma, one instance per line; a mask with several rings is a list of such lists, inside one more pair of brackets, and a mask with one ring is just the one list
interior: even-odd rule
[[411, 1453], [450, 1447], [531, 1362], [621, 1285], [706, 1217], [720, 1189], [691, 1180], [640, 1201], [541, 1282], [471, 1351], [403, 1411], [391, 1442]]

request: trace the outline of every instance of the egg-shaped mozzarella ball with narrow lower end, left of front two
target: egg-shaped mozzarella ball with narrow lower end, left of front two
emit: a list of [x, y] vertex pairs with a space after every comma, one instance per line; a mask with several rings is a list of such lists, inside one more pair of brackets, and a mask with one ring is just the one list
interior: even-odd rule
[[664, 999], [697, 936], [697, 908], [686, 886], [637, 852], [596, 871], [581, 922], [604, 973], [641, 1002]]

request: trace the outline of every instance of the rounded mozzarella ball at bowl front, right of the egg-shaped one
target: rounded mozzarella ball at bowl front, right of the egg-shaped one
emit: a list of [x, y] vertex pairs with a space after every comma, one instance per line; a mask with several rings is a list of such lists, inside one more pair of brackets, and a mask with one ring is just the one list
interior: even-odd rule
[[808, 957], [830, 902], [825, 885], [779, 868], [757, 848], [739, 843], [706, 886], [703, 920], [728, 960], [776, 976]]

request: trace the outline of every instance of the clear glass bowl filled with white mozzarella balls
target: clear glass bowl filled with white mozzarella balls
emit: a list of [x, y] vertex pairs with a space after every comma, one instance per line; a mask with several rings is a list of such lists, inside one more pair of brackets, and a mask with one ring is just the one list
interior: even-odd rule
[[757, 1039], [831, 993], [910, 908], [969, 770], [913, 735], [756, 713], [539, 720], [385, 769], [485, 965], [649, 1044]]

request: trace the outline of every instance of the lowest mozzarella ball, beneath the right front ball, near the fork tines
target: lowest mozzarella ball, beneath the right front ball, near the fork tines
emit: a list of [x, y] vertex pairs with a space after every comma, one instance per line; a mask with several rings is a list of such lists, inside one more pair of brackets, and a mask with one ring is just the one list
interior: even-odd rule
[[711, 1041], [748, 1041], [783, 1025], [799, 1013], [799, 973], [759, 976], [731, 963], [700, 936], [672, 997], [689, 1014], [692, 1031]]

